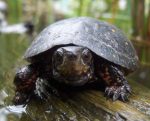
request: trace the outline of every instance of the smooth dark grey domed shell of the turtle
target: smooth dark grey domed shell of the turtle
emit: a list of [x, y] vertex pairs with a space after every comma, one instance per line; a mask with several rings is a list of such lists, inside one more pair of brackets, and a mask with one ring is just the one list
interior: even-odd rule
[[138, 66], [136, 51], [124, 33], [109, 23], [90, 17], [70, 18], [49, 25], [31, 43], [24, 58], [31, 60], [57, 45], [67, 44], [87, 47], [129, 71]]

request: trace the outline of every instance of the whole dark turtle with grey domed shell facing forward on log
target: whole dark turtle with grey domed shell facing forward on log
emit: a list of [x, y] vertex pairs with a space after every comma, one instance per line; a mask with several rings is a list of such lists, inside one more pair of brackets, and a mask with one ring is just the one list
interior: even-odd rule
[[73, 87], [104, 82], [104, 94], [127, 101], [131, 86], [126, 76], [135, 71], [139, 59], [126, 35], [116, 26], [91, 17], [57, 21], [46, 27], [24, 54], [29, 65], [15, 75], [14, 103], [34, 94], [37, 79]]

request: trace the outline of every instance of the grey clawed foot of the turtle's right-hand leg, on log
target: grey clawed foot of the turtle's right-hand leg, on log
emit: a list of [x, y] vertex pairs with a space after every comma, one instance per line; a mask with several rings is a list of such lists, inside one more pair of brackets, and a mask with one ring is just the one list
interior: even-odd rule
[[106, 87], [105, 89], [106, 97], [112, 98], [113, 101], [120, 99], [123, 102], [126, 102], [128, 101], [129, 94], [131, 94], [131, 88], [128, 85], [110, 86], [110, 87]]

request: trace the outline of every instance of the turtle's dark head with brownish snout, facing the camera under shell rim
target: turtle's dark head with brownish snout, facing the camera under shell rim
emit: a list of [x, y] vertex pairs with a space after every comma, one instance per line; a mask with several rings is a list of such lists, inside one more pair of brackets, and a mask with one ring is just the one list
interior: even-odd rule
[[93, 57], [78, 46], [58, 48], [52, 56], [53, 77], [70, 85], [83, 85], [93, 78]]

